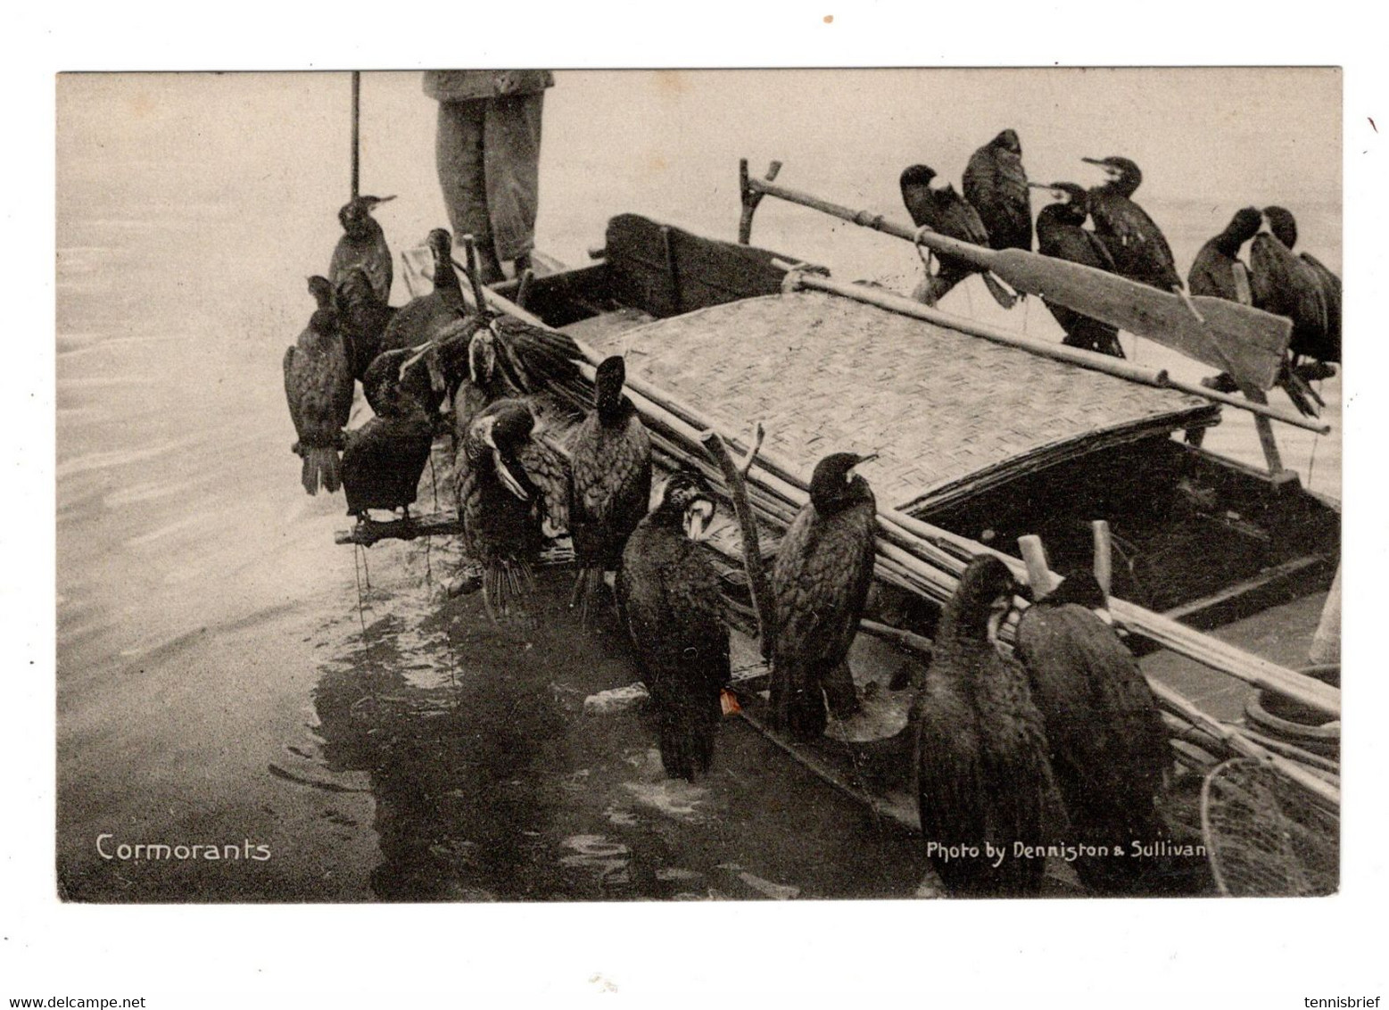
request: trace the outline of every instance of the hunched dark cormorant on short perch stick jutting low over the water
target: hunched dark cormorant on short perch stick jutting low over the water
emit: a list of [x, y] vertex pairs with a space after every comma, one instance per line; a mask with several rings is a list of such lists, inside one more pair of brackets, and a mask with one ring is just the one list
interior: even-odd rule
[[347, 514], [358, 521], [371, 518], [369, 508], [400, 508], [410, 518], [433, 445], [433, 420], [414, 397], [394, 389], [378, 403], [376, 417], [347, 432], [343, 449]]

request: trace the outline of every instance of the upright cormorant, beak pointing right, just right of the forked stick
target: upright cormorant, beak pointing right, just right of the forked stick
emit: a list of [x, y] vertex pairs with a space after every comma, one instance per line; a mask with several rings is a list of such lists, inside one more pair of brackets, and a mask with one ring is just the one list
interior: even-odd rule
[[815, 464], [810, 502], [776, 549], [771, 718], [799, 740], [825, 732], [826, 696], [838, 718], [860, 710], [846, 657], [872, 582], [878, 506], [853, 471], [871, 458], [832, 453]]

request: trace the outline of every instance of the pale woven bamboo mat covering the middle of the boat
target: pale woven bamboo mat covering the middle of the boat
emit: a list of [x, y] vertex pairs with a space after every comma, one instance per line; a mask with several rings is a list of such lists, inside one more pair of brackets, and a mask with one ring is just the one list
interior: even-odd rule
[[1211, 424], [1200, 397], [1153, 389], [822, 292], [714, 306], [594, 349], [808, 479], [832, 452], [885, 506], [929, 511], [1117, 442]]

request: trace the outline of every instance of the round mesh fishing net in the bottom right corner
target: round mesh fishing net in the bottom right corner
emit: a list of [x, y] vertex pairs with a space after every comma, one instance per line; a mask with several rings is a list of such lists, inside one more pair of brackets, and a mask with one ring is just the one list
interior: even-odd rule
[[1201, 834], [1222, 895], [1336, 891], [1340, 818], [1263, 761], [1236, 757], [1207, 775]]

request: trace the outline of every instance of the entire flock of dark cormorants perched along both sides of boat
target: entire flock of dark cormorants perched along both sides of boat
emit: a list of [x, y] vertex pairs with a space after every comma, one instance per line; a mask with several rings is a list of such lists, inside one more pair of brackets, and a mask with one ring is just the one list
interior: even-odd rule
[[[1040, 251], [1181, 289], [1167, 240], [1132, 200], [1138, 165], [1120, 157], [1095, 164], [1111, 176], [1103, 186], [1040, 186], [1056, 196], [1036, 218]], [[949, 185], [932, 189], [933, 178], [925, 165], [900, 178], [918, 226], [1031, 249], [1029, 186], [1038, 186], [1022, 169], [1014, 131], [975, 153], [964, 196]], [[585, 622], [604, 572], [615, 572], [617, 610], [650, 690], [667, 774], [707, 772], [731, 679], [729, 622], [699, 546], [713, 490], [697, 472], [678, 471], [649, 511], [651, 443], [622, 392], [621, 357], [599, 365], [592, 411], [554, 438], [547, 421], [569, 408], [551, 385], [578, 378], [579, 349], [563, 333], [469, 307], [449, 232], [428, 239], [433, 290], [392, 308], [390, 250], [371, 213], [385, 199], [357, 197], [342, 210], [329, 275], [308, 282], [317, 308], [285, 354], [306, 490], [340, 485], [360, 521], [374, 508], [408, 518], [436, 435], [451, 433], [464, 546], [483, 570], [489, 617], [524, 613], [546, 533], [568, 531], [578, 564], [571, 606]], [[1271, 233], [1260, 232], [1265, 218]], [[1282, 208], [1240, 210], [1197, 254], [1190, 292], [1242, 299], [1235, 264], [1249, 240], [1253, 303], [1293, 318], [1295, 356], [1339, 360], [1339, 281], [1290, 251], [1296, 231]], [[928, 300], [978, 272], [939, 260], [928, 271]], [[1011, 304], [1011, 293], [985, 279]], [[1122, 356], [1113, 326], [1049, 307], [1065, 343]], [[344, 431], [354, 381], [374, 417]], [[846, 657], [874, 568], [876, 504], [854, 472], [864, 461], [832, 453], [818, 463], [772, 568], [771, 720], [799, 740], [820, 736], [829, 713], [846, 720], [861, 706]], [[1104, 595], [1088, 574], [1065, 579], [1021, 615], [1010, 654], [999, 631], [1020, 596], [1031, 600], [1007, 567], [981, 556], [942, 615], [913, 713], [928, 856], [961, 895], [1036, 893], [1056, 846], [1078, 853], [1074, 866], [1095, 891], [1179, 889], [1189, 867], [1129, 852], [1164, 846], [1158, 806], [1171, 760], [1153, 695], [1101, 620]]]

